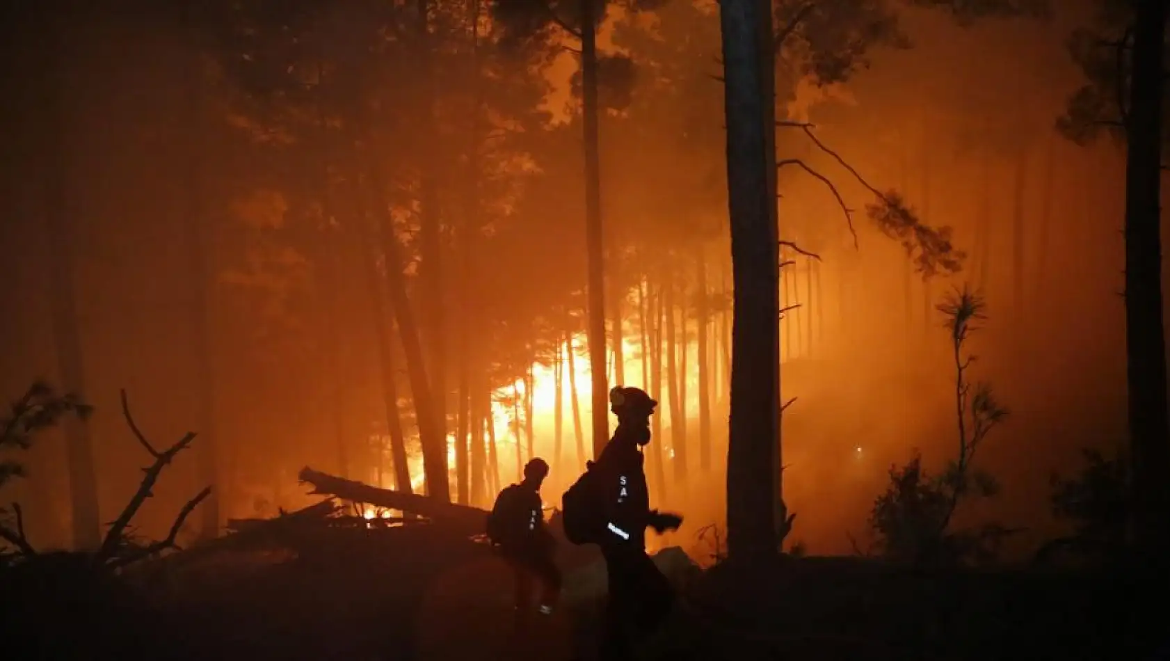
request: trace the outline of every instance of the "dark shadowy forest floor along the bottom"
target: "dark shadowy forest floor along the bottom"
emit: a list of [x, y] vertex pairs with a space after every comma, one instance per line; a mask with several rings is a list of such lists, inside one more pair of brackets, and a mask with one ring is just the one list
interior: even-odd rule
[[[295, 545], [300, 556], [221, 552], [186, 566], [177, 555], [137, 571], [137, 592], [92, 579], [67, 556], [7, 570], [0, 656], [567, 661], [593, 635], [590, 610], [577, 608], [516, 640], [504, 566], [429, 526], [329, 530]], [[720, 566], [687, 586], [644, 652], [672, 661], [1170, 659], [1155, 655], [1170, 642], [1163, 587], [1120, 570], [925, 574], [860, 558]]]

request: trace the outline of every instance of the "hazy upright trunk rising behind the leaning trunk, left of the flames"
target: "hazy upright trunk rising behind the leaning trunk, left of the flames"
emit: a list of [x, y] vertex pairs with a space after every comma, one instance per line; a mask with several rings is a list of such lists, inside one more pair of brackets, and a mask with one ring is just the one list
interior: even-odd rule
[[[422, 82], [422, 116], [417, 125], [424, 135], [425, 143], [433, 143], [438, 139], [434, 130], [434, 97], [431, 77], [431, 28], [429, 28], [429, 0], [417, 0], [418, 30], [419, 30], [419, 63], [424, 74], [419, 77]], [[421, 160], [420, 180], [420, 208], [419, 208], [419, 250], [422, 259], [419, 264], [419, 282], [421, 289], [421, 312], [420, 340], [425, 339], [422, 346], [429, 349], [426, 356], [427, 370], [424, 372], [429, 386], [429, 415], [434, 416], [438, 425], [436, 434], [442, 440], [442, 473], [441, 484], [434, 488], [431, 486], [432, 473], [427, 471], [427, 494], [439, 495], [441, 500], [449, 501], [449, 488], [447, 486], [447, 324], [443, 315], [446, 304], [443, 274], [442, 274], [442, 218], [439, 211], [439, 202], [435, 197], [435, 173], [433, 154], [426, 154]], [[400, 328], [401, 328], [401, 322]], [[435, 457], [433, 462], [436, 462]]]

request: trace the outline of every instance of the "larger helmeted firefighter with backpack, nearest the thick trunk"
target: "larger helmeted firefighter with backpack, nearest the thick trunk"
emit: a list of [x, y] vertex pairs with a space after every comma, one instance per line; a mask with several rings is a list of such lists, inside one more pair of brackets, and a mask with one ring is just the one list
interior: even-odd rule
[[596, 543], [608, 578], [601, 656], [628, 659], [633, 646], [662, 622], [674, 604], [674, 588], [646, 555], [646, 529], [675, 530], [682, 517], [649, 507], [642, 448], [651, 442], [651, 415], [658, 401], [634, 387], [610, 391], [618, 427], [601, 456], [565, 493], [565, 536], [576, 544]]

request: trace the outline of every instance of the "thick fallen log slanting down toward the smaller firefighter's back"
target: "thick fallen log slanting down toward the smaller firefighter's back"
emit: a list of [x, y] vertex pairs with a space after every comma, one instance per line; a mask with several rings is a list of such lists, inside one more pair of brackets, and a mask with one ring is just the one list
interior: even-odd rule
[[363, 503], [424, 516], [459, 535], [480, 535], [487, 528], [488, 512], [470, 505], [445, 503], [417, 494], [379, 489], [355, 480], [345, 480], [309, 467], [297, 474], [302, 483], [312, 486], [310, 494], [328, 494], [344, 501]]

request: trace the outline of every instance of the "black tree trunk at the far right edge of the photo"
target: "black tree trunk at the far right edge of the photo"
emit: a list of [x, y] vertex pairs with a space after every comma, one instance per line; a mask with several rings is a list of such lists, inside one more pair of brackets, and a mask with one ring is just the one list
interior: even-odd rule
[[1170, 425], [1162, 308], [1161, 166], [1166, 4], [1134, 18], [1126, 160], [1126, 358], [1134, 533], [1152, 562], [1170, 556]]

